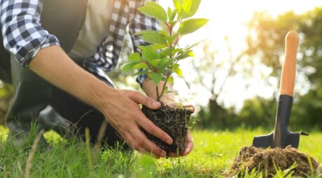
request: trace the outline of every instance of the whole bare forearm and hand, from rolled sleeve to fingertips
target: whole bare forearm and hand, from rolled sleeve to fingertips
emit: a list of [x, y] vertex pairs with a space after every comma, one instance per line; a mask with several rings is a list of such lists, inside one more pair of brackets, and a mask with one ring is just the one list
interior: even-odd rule
[[139, 108], [141, 103], [157, 109], [160, 103], [154, 104], [152, 98], [138, 91], [109, 87], [75, 64], [57, 45], [40, 50], [29, 68], [56, 87], [100, 110], [133, 149], [153, 154], [156, 158], [166, 156], [165, 151], [148, 140], [140, 130], [140, 127], [144, 128], [160, 140], [172, 144], [172, 138], [146, 118]]

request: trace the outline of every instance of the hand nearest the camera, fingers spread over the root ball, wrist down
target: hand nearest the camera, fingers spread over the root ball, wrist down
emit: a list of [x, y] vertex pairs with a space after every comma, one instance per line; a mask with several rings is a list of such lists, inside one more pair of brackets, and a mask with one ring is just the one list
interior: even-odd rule
[[155, 126], [139, 107], [139, 104], [143, 104], [151, 109], [158, 109], [160, 107], [158, 101], [139, 91], [113, 89], [113, 92], [110, 92], [103, 103], [100, 108], [101, 112], [105, 114], [109, 123], [116, 128], [130, 147], [144, 154], [153, 154], [156, 158], [167, 156], [164, 150], [148, 140], [140, 130], [140, 127], [144, 128], [163, 142], [172, 144], [172, 138], [161, 128]]

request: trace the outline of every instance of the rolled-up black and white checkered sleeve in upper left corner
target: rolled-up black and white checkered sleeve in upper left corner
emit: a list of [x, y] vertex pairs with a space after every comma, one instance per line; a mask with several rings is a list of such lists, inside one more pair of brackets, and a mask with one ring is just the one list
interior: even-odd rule
[[0, 0], [3, 45], [27, 67], [39, 50], [59, 45], [59, 40], [41, 27], [42, 0]]

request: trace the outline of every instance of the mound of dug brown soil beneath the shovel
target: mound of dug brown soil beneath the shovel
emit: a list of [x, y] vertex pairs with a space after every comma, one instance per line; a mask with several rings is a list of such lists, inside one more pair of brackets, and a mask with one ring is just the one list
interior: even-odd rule
[[[318, 163], [311, 158], [311, 164], [314, 172], [320, 171], [318, 169]], [[286, 148], [274, 148], [274, 149], [260, 149], [257, 147], [244, 147], [239, 151], [239, 155], [235, 158], [234, 164], [228, 175], [233, 176], [241, 174], [239, 172], [245, 172], [248, 170], [259, 170], [262, 172], [267, 171], [265, 177], [272, 177], [276, 175], [276, 168], [286, 170], [290, 168], [294, 163], [297, 167], [293, 169], [293, 176], [305, 177], [305, 175], [311, 175], [311, 168], [308, 161], [308, 155], [302, 154], [293, 147]], [[276, 165], [276, 168], [274, 167]]]

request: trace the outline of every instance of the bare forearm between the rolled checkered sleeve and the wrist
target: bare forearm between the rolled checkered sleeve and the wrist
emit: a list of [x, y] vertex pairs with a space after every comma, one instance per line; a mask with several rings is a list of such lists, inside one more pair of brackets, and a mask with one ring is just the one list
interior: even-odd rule
[[75, 64], [57, 45], [38, 52], [29, 68], [48, 82], [97, 109], [102, 107], [101, 101], [106, 94], [115, 93], [115, 89]]

